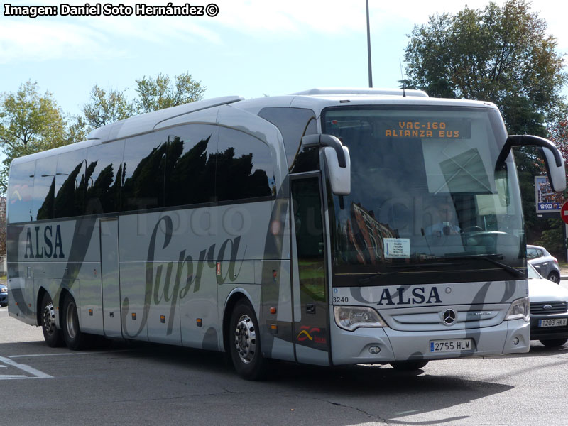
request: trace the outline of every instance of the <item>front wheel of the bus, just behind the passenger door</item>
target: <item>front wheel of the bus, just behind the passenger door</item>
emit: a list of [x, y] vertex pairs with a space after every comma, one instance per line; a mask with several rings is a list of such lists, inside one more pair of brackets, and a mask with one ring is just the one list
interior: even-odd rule
[[266, 359], [261, 351], [258, 321], [249, 302], [241, 300], [231, 312], [229, 351], [236, 372], [246, 380], [261, 380], [266, 375]]

